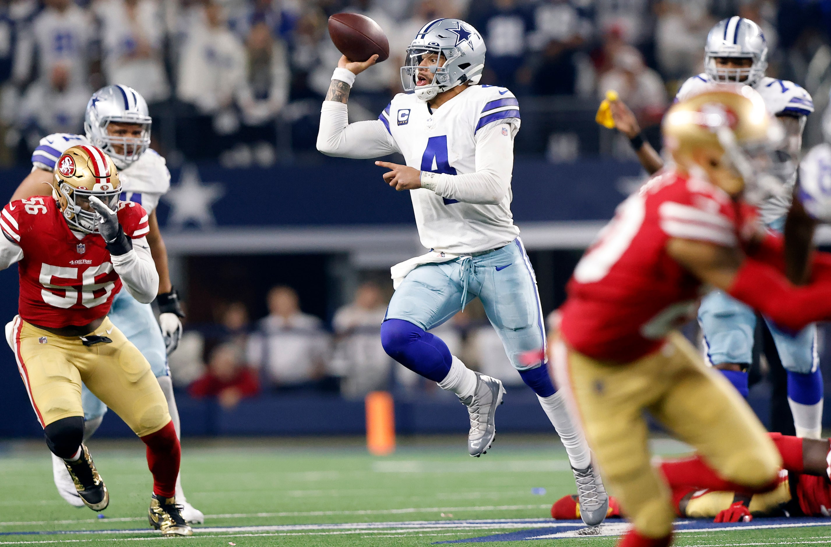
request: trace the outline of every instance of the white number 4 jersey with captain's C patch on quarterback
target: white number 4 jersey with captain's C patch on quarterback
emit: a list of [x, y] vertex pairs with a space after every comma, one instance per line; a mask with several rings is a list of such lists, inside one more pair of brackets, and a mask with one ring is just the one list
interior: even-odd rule
[[[479, 131], [494, 122], [507, 124], [506, 138], [519, 130], [519, 102], [504, 87], [470, 86], [430, 112], [415, 94], [399, 93], [379, 116], [404, 155], [417, 170], [464, 175], [476, 172]], [[510, 190], [495, 205], [462, 203], [433, 190], [410, 191], [421, 244], [453, 254], [496, 249], [517, 238]]]

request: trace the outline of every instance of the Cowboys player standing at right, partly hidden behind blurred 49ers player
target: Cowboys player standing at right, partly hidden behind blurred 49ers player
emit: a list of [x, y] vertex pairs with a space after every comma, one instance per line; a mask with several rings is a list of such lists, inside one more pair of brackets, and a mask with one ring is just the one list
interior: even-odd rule
[[[689, 78], [678, 91], [676, 101], [695, 95], [702, 87], [720, 82], [741, 82], [759, 91], [770, 114], [777, 117], [787, 133], [778, 152], [777, 175], [796, 182], [794, 165], [802, 146], [802, 131], [809, 114], [814, 111], [811, 96], [792, 81], [765, 76], [768, 47], [760, 27], [743, 17], [724, 19], [713, 27], [705, 47], [705, 72]], [[621, 101], [613, 101], [612, 116], [617, 129], [627, 135], [639, 160], [651, 175], [663, 167], [659, 155], [644, 140], [637, 121]], [[800, 210], [789, 217], [792, 192], [766, 200], [759, 207], [760, 219], [769, 229], [783, 232], [794, 252], [807, 251], [810, 236], [802, 233]], [[785, 220], [789, 219], [786, 229]], [[808, 230], [810, 232], [811, 230]], [[803, 272], [804, 274], [804, 272]], [[799, 272], [789, 278], [799, 283]], [[705, 358], [747, 397], [747, 369], [753, 361], [756, 315], [745, 304], [716, 290], [701, 301], [698, 320], [704, 335]], [[788, 375], [788, 403], [794, 416], [797, 436], [819, 438], [823, 415], [823, 378], [819, 370], [816, 347], [817, 329], [810, 325], [799, 333], [787, 333], [765, 319], [765, 327], [774, 340], [779, 361]]]

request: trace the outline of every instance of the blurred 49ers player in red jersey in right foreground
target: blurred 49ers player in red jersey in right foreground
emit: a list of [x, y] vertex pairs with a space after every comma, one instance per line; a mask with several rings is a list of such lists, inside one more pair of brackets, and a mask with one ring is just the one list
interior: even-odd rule
[[767, 156], [753, 153], [773, 150], [775, 129], [750, 87], [677, 103], [663, 121], [676, 165], [618, 208], [568, 284], [554, 374], [632, 520], [619, 545], [671, 543], [675, 510], [650, 465], [645, 411], [696, 447], [700, 487], [752, 494], [777, 484], [781, 457], [765, 428], [675, 330], [705, 283], [784, 328], [831, 317], [829, 255], [814, 254], [809, 284], [794, 287], [779, 237], [745, 203], [782, 190], [755, 164]]

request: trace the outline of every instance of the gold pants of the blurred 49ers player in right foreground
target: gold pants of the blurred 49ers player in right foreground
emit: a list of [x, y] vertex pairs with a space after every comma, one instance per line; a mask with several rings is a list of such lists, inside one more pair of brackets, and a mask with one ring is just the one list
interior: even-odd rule
[[675, 517], [669, 489], [650, 464], [644, 411], [724, 479], [763, 487], [776, 478], [782, 461], [765, 428], [681, 333], [627, 364], [597, 361], [559, 340], [553, 368], [607, 488], [642, 535], [669, 535]]

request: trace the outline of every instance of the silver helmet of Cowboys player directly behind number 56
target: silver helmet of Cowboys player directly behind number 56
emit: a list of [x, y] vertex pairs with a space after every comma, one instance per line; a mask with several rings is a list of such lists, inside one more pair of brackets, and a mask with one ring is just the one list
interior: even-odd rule
[[[113, 122], [137, 124], [142, 128], [141, 136], [111, 136], [107, 127]], [[147, 102], [132, 87], [102, 87], [86, 104], [86, 138], [104, 150], [119, 169], [126, 169], [145, 153], [150, 146], [150, 126]]]

